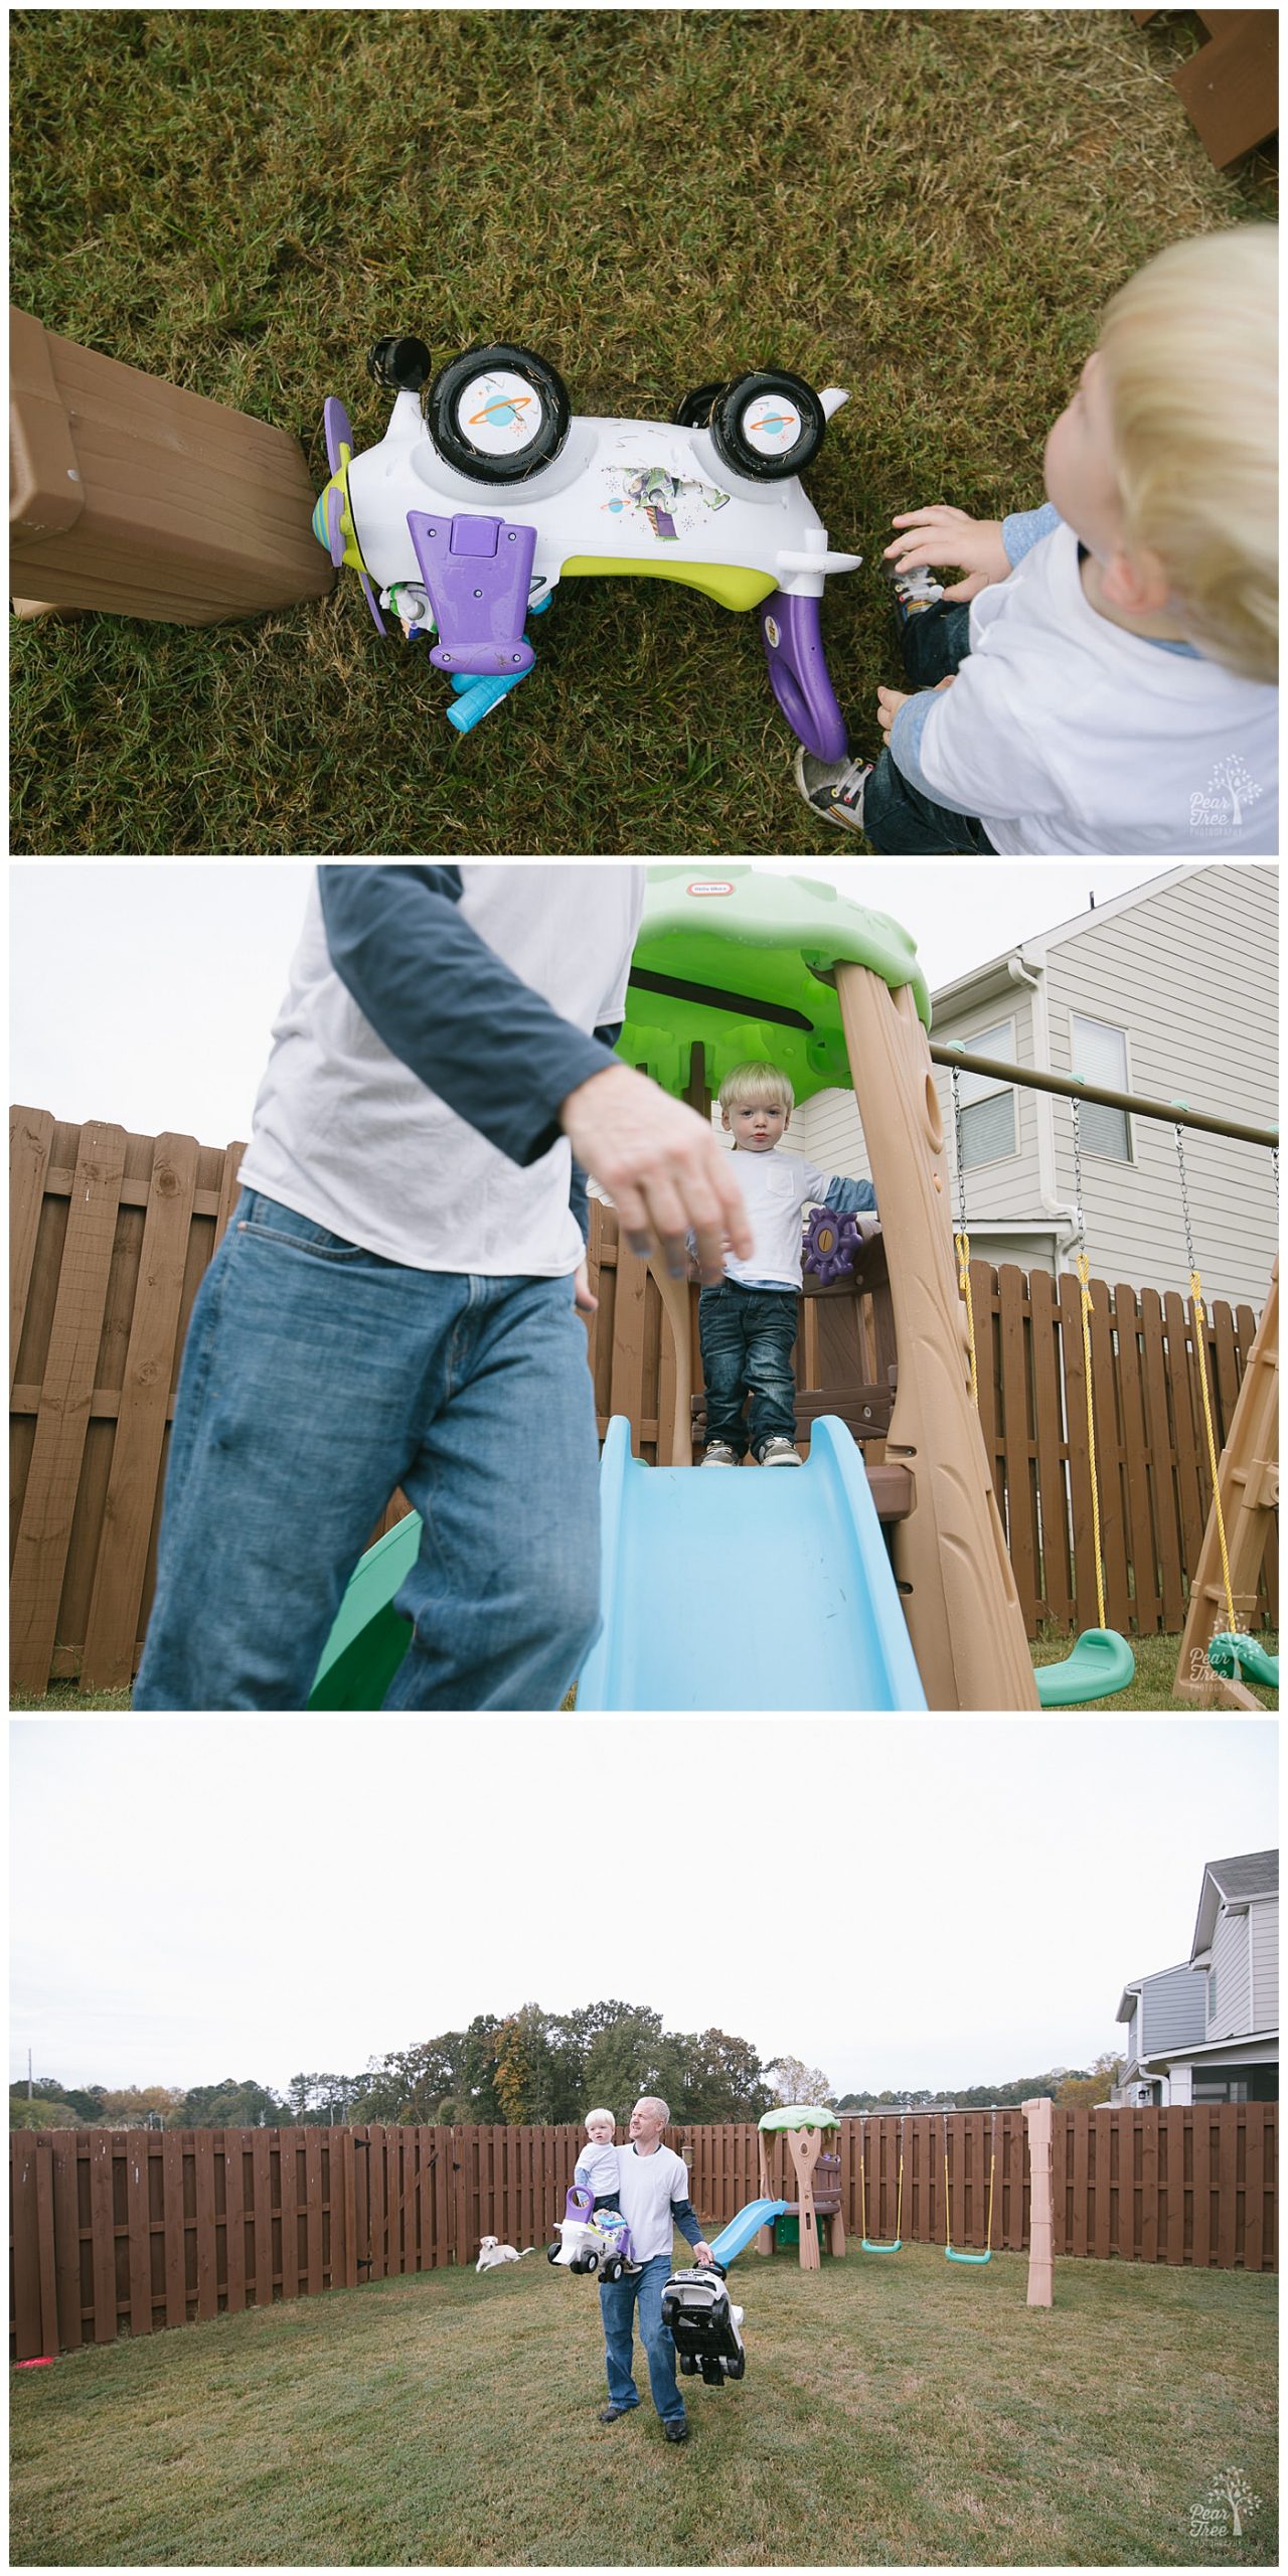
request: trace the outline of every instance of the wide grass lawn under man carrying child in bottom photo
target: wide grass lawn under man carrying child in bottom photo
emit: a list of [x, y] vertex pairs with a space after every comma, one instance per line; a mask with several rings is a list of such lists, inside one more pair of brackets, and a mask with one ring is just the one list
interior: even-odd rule
[[[598, 2424], [598, 2298], [541, 2254], [70, 2354], [13, 2380], [13, 2563], [1273, 2566], [1275, 2282], [1025, 2280], [744, 2257], [685, 2450]], [[1262, 2501], [1195, 2540], [1226, 2468]]]

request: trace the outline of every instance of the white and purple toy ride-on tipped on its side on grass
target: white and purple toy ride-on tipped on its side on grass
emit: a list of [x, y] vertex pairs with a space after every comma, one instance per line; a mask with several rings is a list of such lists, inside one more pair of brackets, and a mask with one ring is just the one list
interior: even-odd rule
[[840, 386], [762, 371], [698, 386], [675, 420], [582, 420], [554, 366], [507, 343], [433, 374], [422, 340], [379, 340], [368, 371], [397, 394], [389, 428], [358, 456], [327, 399], [332, 477], [312, 526], [358, 572], [381, 634], [392, 611], [407, 636], [435, 636], [459, 732], [533, 667], [523, 626], [562, 577], [631, 572], [760, 608], [791, 729], [819, 760], [845, 757], [819, 600], [860, 556], [829, 551], [799, 482]]

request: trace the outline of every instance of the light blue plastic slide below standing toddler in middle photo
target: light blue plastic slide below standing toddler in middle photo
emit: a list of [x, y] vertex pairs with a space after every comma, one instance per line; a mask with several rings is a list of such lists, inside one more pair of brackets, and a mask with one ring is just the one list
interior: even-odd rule
[[863, 1461], [832, 1414], [806, 1466], [775, 1468], [644, 1466], [613, 1417], [600, 1507], [580, 1716], [925, 1708]]

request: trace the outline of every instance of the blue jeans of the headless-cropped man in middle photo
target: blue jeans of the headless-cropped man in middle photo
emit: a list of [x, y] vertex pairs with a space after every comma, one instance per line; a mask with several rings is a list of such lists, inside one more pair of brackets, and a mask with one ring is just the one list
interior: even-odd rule
[[394, 1486], [422, 1515], [386, 1708], [559, 1708], [598, 1633], [572, 1280], [404, 1270], [242, 1190], [201, 1283], [134, 1708], [304, 1708]]

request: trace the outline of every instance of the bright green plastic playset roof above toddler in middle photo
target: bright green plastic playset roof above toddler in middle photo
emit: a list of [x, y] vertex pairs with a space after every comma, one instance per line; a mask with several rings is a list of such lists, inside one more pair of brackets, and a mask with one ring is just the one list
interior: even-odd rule
[[781, 1064], [796, 1100], [850, 1090], [837, 992], [819, 981], [842, 961], [871, 966], [891, 989], [912, 984], [930, 1028], [917, 948], [889, 912], [811, 876], [649, 868], [618, 1056], [675, 1095], [688, 1090], [696, 1043], [711, 1092], [747, 1056]]

